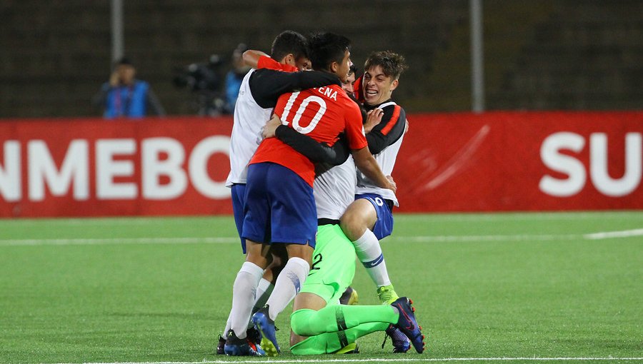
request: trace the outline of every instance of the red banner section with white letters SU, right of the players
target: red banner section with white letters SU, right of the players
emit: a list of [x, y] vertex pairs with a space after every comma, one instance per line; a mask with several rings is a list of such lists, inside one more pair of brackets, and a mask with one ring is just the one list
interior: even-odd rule
[[643, 208], [642, 112], [409, 116], [399, 211]]

